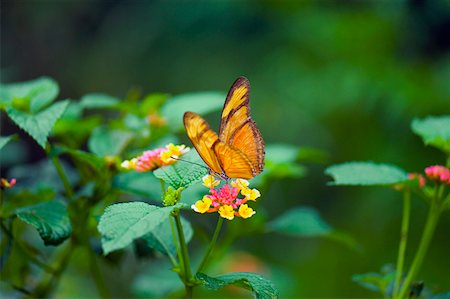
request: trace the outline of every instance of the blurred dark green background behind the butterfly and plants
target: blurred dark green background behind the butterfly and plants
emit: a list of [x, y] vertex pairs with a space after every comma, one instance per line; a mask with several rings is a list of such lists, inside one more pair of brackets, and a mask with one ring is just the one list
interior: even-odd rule
[[[409, 126], [415, 117], [450, 113], [449, 33], [445, 0], [4, 0], [1, 80], [47, 75], [60, 84], [60, 98], [77, 99], [89, 92], [226, 92], [246, 76], [266, 143], [329, 154], [326, 164], [307, 165], [301, 180], [272, 185], [262, 199], [269, 219], [294, 205], [313, 206], [361, 250], [280, 236], [248, 236], [236, 248], [266, 264], [282, 298], [377, 297], [351, 275], [395, 262], [400, 194], [330, 187], [323, 170], [349, 160], [416, 172], [444, 163]], [[217, 128], [218, 117], [211, 119]], [[17, 131], [4, 119], [2, 126]], [[18, 160], [42, 156], [30, 142]], [[426, 204], [415, 198], [410, 244], [418, 242], [425, 213]], [[450, 287], [449, 227], [447, 213], [420, 275], [441, 291]], [[92, 286], [79, 287], [85, 290], [65, 289], [76, 296]]]

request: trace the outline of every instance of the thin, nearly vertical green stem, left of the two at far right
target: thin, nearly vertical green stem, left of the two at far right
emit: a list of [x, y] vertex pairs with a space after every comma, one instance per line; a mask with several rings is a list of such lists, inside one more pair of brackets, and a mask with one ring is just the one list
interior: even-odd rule
[[406, 189], [403, 193], [402, 227], [401, 227], [401, 232], [400, 232], [400, 245], [398, 248], [394, 292], [392, 293], [393, 298], [395, 298], [395, 296], [398, 293], [402, 275], [403, 275], [403, 265], [405, 262], [406, 243], [408, 241], [410, 212], [411, 212], [411, 191], [409, 189]]

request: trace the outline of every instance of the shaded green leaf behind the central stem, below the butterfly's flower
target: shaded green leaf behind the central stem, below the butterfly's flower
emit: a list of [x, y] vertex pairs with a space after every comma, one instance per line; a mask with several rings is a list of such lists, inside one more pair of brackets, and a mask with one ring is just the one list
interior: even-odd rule
[[[191, 223], [181, 217], [181, 225], [183, 226], [184, 239], [186, 240], [186, 243], [188, 243], [192, 239], [194, 233]], [[162, 222], [151, 233], [145, 235], [143, 239], [150, 248], [175, 258], [177, 252], [169, 219]]]

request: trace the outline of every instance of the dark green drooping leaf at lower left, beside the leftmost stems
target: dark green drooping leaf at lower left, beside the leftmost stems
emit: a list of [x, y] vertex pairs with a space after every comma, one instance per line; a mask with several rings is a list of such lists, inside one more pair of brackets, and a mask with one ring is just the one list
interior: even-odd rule
[[16, 210], [22, 221], [34, 226], [45, 245], [59, 245], [72, 233], [66, 206], [54, 200]]

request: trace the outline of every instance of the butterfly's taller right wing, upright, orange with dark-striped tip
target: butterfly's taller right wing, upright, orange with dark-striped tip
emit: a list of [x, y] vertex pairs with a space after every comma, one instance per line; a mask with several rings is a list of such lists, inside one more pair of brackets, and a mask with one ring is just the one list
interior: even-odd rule
[[[218, 158], [227, 176], [252, 178], [263, 170], [264, 140], [251, 119], [250, 83], [244, 77], [238, 78], [228, 92], [219, 139], [228, 147], [217, 147]], [[251, 172], [247, 164], [251, 166]]]

